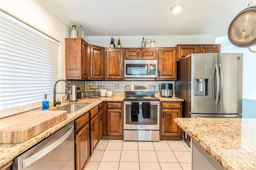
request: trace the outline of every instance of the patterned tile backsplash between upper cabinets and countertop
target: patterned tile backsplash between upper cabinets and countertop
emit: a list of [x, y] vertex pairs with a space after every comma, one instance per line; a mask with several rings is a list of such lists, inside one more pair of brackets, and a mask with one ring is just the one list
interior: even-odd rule
[[[90, 86], [98, 86], [95, 92], [99, 92], [99, 89], [107, 89], [112, 92], [125, 92], [126, 84], [135, 85], [155, 85], [155, 92], [160, 92], [160, 84], [172, 83], [174, 87], [174, 81], [69, 81], [70, 86], [77, 85], [80, 87], [81, 92], [86, 92], [86, 96], [90, 96], [93, 92]], [[71, 89], [72, 90], [72, 89]]]

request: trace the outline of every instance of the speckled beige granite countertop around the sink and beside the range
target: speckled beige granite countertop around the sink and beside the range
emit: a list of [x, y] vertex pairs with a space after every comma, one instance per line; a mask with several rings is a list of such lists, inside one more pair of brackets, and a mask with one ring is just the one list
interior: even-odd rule
[[[156, 95], [157, 96], [157, 95]], [[161, 96], [157, 96], [160, 101], [170, 101], [170, 102], [175, 102], [175, 101], [184, 101], [183, 99], [172, 97], [172, 98], [162, 98]], [[54, 125], [53, 127], [47, 129], [46, 131], [43, 131], [42, 133], [39, 133], [38, 135], [32, 137], [31, 139], [28, 139], [27, 141], [23, 143], [18, 143], [18, 144], [0, 144], [0, 167], [3, 166], [4, 164], [12, 161], [16, 156], [21, 154], [22, 152], [28, 150], [29, 148], [33, 147], [46, 137], [50, 136], [52, 133], [58, 131], [60, 128], [64, 127], [68, 123], [74, 121], [90, 109], [94, 108], [98, 104], [104, 102], [104, 101], [116, 101], [116, 102], [122, 102], [124, 100], [124, 96], [112, 96], [112, 97], [100, 97], [100, 98], [83, 98], [79, 99], [77, 102], [69, 102], [67, 104], [61, 104], [57, 105], [57, 107], [51, 108], [50, 110], [55, 110], [60, 107], [69, 105], [69, 104], [89, 104], [88, 106], [74, 112], [74, 113], [69, 113], [68, 118], [65, 119], [64, 121]], [[15, 116], [15, 115], [14, 115]], [[24, 120], [25, 121], [25, 120]]]

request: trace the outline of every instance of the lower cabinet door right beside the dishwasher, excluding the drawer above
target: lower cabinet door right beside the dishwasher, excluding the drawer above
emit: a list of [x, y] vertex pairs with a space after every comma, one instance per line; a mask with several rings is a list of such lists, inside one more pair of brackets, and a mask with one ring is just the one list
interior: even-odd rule
[[87, 123], [76, 133], [76, 170], [82, 170], [90, 158], [90, 131]]

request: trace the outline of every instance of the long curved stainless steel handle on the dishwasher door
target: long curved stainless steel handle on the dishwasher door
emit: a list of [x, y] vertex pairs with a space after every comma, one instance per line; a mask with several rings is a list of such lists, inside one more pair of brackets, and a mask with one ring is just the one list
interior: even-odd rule
[[32, 156], [26, 158], [22, 161], [22, 168], [27, 167], [28, 165], [32, 164], [33, 162], [36, 162], [38, 159], [42, 158], [44, 155], [48, 154], [50, 151], [58, 147], [62, 142], [64, 142], [70, 134], [74, 131], [74, 125], [71, 125], [70, 130], [63, 135], [60, 139], [49, 145], [48, 147], [40, 150], [36, 154], [33, 154]]

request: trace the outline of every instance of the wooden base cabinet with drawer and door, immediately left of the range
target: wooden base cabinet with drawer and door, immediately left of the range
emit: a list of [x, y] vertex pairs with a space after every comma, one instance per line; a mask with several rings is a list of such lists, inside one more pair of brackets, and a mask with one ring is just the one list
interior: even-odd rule
[[123, 103], [107, 102], [107, 134], [123, 136]]

